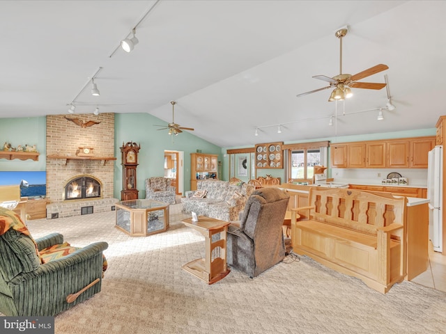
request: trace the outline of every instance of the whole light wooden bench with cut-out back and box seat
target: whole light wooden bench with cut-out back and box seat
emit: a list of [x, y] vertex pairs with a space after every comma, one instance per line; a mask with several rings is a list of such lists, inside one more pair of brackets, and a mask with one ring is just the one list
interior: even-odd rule
[[406, 276], [406, 202], [389, 194], [312, 187], [309, 206], [292, 209], [301, 216], [291, 219], [293, 250], [386, 293]]

